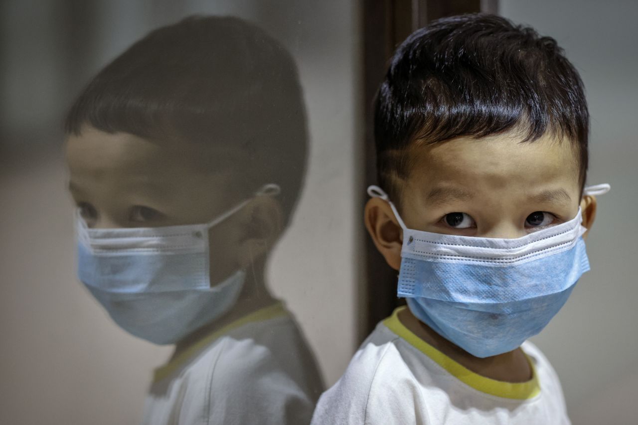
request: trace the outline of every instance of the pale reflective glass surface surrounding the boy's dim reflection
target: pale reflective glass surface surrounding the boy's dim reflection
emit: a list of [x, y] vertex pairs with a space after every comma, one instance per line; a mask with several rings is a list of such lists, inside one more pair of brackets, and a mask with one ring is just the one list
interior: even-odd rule
[[[59, 126], [71, 95], [98, 68], [152, 27], [191, 13], [251, 19], [279, 38], [299, 65], [311, 135], [308, 176], [269, 278], [297, 315], [332, 384], [357, 338], [358, 4], [83, 3], [100, 18], [85, 70], [62, 63], [64, 43], [73, 42], [63, 34], [70, 11], [63, 4], [71, 3], [11, 0], [1, 8], [0, 423], [139, 422], [151, 369], [171, 350], [121, 331], [76, 280]], [[70, 80], [71, 71], [80, 80]]]

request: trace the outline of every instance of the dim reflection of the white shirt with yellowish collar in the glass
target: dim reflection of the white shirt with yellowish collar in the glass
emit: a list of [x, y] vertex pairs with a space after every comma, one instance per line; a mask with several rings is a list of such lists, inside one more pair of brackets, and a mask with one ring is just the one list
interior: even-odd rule
[[322, 379], [282, 304], [260, 309], [156, 369], [144, 424], [310, 422]]

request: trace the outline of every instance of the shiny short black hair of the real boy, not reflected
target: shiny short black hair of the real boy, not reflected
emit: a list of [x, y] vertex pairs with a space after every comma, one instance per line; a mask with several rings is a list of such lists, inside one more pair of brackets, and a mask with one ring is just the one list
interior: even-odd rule
[[379, 184], [397, 198], [408, 147], [520, 128], [575, 145], [584, 184], [589, 114], [581, 78], [549, 37], [494, 15], [439, 19], [397, 49], [376, 98]]

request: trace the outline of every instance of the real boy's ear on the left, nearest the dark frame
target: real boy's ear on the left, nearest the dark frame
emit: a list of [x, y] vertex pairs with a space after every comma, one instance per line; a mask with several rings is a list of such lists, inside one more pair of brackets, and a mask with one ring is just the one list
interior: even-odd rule
[[364, 222], [376, 249], [392, 269], [399, 270], [403, 229], [392, 213], [390, 205], [381, 198], [370, 198], [366, 203]]

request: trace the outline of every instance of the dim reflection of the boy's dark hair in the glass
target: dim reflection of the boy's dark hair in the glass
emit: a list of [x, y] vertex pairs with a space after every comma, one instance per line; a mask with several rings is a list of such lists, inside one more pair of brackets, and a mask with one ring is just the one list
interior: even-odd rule
[[286, 220], [302, 187], [308, 136], [295, 63], [262, 29], [233, 17], [161, 27], [108, 64], [66, 117], [163, 143], [202, 146], [236, 171], [242, 196], [281, 186]]

